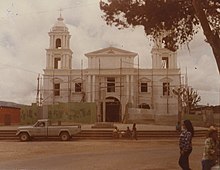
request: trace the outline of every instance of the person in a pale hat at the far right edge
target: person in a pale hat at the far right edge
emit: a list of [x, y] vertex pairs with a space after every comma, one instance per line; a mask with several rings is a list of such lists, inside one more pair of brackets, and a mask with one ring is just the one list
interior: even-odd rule
[[202, 170], [211, 170], [217, 163], [218, 131], [214, 126], [208, 129], [202, 156]]

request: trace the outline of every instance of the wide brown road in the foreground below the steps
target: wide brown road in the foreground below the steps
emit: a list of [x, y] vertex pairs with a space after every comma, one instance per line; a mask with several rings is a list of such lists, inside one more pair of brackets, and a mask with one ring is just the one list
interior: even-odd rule
[[[203, 139], [193, 141], [199, 170]], [[0, 142], [1, 170], [178, 170], [178, 140]]]

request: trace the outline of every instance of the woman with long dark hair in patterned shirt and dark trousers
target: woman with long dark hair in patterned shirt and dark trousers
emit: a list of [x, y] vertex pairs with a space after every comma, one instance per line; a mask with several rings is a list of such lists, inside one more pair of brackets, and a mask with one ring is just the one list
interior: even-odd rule
[[194, 136], [194, 128], [190, 120], [183, 121], [183, 131], [180, 134], [179, 148], [180, 158], [179, 166], [183, 170], [190, 170], [189, 168], [189, 155], [192, 152], [192, 138]]

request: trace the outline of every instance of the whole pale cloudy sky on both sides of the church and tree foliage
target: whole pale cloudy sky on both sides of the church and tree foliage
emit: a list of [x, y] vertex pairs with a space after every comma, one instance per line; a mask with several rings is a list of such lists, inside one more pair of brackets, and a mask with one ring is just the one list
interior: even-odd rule
[[[101, 18], [99, 0], [0, 0], [0, 101], [36, 102], [37, 77], [46, 65], [48, 32], [60, 15], [71, 34], [72, 67], [86, 67], [84, 54], [113, 46], [138, 53], [151, 68], [153, 43], [142, 27], [118, 30]], [[220, 75], [202, 30], [178, 50], [178, 66], [203, 105], [220, 104]]]

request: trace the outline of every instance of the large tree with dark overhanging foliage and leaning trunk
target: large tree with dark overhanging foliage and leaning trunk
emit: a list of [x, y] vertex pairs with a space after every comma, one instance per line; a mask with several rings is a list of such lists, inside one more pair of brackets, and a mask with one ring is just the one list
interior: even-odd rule
[[143, 26], [152, 39], [166, 32], [163, 43], [172, 51], [202, 27], [220, 72], [219, 0], [100, 0], [100, 9], [106, 23], [119, 29]]

